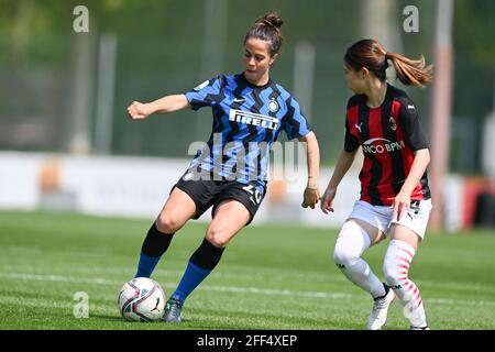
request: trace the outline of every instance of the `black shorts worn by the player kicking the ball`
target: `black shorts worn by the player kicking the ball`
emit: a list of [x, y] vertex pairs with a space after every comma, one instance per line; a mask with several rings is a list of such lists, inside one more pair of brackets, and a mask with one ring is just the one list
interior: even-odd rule
[[256, 182], [242, 184], [237, 180], [185, 180], [184, 176], [172, 190], [175, 187], [186, 193], [195, 201], [196, 213], [193, 219], [201, 217], [211, 206], [213, 206], [211, 209], [211, 217], [213, 217], [215, 210], [222, 201], [233, 199], [241, 202], [250, 212], [251, 218], [246, 224], [253, 221], [266, 190], [266, 187], [260, 186]]

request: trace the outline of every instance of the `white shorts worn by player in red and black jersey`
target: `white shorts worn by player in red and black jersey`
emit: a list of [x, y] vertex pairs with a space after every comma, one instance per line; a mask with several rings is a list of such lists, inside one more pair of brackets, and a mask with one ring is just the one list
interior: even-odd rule
[[425, 238], [428, 218], [431, 212], [431, 199], [416, 200], [407, 213], [404, 213], [400, 219], [392, 219], [393, 209], [391, 207], [372, 206], [371, 204], [358, 200], [354, 204], [349, 219], [363, 220], [378, 230], [382, 230], [385, 235], [388, 235], [393, 223], [402, 224], [419, 235]]

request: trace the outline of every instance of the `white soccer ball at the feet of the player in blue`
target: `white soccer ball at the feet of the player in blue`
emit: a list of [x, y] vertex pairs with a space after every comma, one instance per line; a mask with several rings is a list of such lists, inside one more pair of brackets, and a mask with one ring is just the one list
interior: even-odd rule
[[165, 292], [151, 278], [133, 278], [120, 290], [119, 308], [125, 320], [160, 320], [165, 308]]

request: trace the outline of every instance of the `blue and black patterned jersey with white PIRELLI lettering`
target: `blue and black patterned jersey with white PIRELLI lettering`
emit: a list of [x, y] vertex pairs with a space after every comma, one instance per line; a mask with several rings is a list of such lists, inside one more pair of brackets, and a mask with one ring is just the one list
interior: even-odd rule
[[294, 97], [271, 80], [254, 86], [243, 74], [220, 75], [185, 95], [194, 110], [211, 107], [213, 112], [207, 146], [189, 167], [212, 179], [256, 180], [264, 187], [270, 148], [280, 132], [292, 140], [311, 131]]

